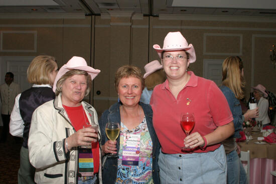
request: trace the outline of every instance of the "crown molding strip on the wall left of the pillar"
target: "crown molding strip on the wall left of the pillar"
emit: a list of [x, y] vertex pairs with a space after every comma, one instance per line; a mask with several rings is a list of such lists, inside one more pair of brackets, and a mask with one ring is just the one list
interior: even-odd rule
[[0, 14], [0, 19], [85, 19], [84, 13]]

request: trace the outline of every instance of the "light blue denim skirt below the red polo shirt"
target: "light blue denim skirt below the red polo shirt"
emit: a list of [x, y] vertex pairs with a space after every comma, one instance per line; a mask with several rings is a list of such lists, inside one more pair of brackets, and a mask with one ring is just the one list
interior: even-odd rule
[[227, 164], [223, 145], [207, 153], [159, 154], [160, 180], [172, 183], [226, 183]]

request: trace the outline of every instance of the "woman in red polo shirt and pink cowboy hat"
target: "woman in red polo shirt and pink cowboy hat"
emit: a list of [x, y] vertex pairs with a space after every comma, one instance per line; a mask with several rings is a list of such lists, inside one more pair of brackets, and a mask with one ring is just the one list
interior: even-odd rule
[[[167, 75], [150, 103], [161, 143], [161, 183], [226, 183], [226, 155], [220, 142], [233, 134], [234, 126], [225, 96], [213, 81], [187, 71], [196, 54], [180, 32], [168, 33], [163, 48], [153, 47]], [[187, 112], [195, 119], [188, 136], [180, 125], [181, 114]]]

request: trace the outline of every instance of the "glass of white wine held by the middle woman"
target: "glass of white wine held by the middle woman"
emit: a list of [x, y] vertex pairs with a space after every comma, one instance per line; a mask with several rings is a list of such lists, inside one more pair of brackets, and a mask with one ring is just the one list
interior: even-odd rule
[[[109, 140], [116, 140], [120, 134], [120, 124], [117, 122], [107, 122], [105, 125], [105, 133]], [[107, 156], [117, 157], [118, 154], [110, 153]]]

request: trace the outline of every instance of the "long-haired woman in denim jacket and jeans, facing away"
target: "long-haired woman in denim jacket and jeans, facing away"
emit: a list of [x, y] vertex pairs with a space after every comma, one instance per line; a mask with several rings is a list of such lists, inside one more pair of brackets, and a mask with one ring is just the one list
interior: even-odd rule
[[[225, 95], [233, 115], [235, 132], [222, 141], [227, 158], [227, 183], [248, 183], [246, 172], [239, 159], [235, 138], [240, 138], [239, 131], [243, 121], [258, 116], [258, 108], [247, 110], [242, 115], [241, 99], [244, 98], [245, 81], [243, 78], [243, 64], [239, 57], [228, 57], [222, 63], [221, 91]], [[238, 152], [237, 152], [238, 151]]]

